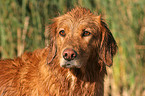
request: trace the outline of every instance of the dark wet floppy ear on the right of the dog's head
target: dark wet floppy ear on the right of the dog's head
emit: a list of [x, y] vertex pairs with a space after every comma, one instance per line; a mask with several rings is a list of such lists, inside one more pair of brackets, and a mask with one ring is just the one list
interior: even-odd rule
[[100, 23], [102, 38], [99, 57], [107, 66], [110, 67], [113, 64], [113, 56], [116, 54], [117, 51], [117, 44], [106, 23], [103, 20], [101, 20]]

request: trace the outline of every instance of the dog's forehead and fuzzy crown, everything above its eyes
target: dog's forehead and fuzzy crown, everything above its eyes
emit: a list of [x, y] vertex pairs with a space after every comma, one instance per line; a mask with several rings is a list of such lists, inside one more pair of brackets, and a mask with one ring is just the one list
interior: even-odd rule
[[[57, 30], [70, 31], [84, 30], [86, 28], [98, 30], [100, 27], [101, 16], [94, 15], [90, 10], [85, 8], [75, 8], [64, 15], [56, 17]], [[97, 31], [94, 31], [97, 32]]]

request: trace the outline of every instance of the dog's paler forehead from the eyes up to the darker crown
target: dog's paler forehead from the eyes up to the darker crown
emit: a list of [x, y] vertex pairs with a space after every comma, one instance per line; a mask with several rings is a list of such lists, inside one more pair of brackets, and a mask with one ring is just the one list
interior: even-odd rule
[[60, 29], [68, 30], [67, 32], [71, 33], [80, 33], [82, 30], [91, 29], [93, 33], [96, 33], [96, 30], [100, 29], [99, 21], [94, 17], [81, 17], [81, 18], [73, 18], [70, 16], [65, 16], [58, 23], [57, 30]]

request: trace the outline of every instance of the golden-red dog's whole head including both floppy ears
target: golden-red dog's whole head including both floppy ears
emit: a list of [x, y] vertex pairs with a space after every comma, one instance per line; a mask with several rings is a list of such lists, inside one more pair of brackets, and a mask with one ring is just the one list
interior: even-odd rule
[[61, 67], [81, 68], [98, 59], [112, 65], [117, 45], [101, 16], [77, 7], [53, 21], [52, 60], [57, 54]]

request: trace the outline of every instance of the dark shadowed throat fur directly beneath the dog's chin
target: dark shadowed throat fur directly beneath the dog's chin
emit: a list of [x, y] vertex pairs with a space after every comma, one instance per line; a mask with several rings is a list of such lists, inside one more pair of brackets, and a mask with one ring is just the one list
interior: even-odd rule
[[91, 83], [100, 81], [100, 78], [104, 79], [106, 74], [106, 68], [104, 66], [100, 66], [100, 64], [97, 63], [87, 64], [87, 66], [84, 68], [72, 68], [69, 71], [76, 78]]

